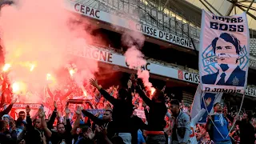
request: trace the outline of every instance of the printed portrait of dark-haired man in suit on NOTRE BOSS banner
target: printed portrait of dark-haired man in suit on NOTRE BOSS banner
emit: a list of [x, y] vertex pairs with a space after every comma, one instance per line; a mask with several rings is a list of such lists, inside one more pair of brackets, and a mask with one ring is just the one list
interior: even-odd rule
[[222, 33], [211, 42], [219, 70], [202, 76], [202, 83], [225, 86], [244, 86], [246, 71], [238, 66], [240, 41], [233, 34]]

